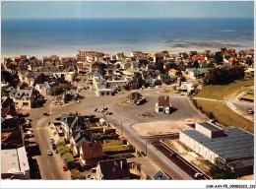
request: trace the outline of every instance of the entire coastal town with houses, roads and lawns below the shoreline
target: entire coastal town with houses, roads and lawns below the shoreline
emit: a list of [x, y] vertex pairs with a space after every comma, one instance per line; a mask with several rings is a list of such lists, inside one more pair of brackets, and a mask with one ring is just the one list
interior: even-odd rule
[[1, 177], [254, 179], [254, 49], [1, 63]]

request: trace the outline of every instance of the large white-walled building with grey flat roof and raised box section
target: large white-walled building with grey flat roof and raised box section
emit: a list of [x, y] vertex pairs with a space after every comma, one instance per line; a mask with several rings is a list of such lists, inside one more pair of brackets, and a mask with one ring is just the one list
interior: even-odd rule
[[213, 163], [216, 158], [230, 160], [239, 175], [253, 173], [254, 135], [240, 128], [223, 129], [213, 123], [201, 122], [196, 124], [195, 130], [181, 131], [179, 140]]

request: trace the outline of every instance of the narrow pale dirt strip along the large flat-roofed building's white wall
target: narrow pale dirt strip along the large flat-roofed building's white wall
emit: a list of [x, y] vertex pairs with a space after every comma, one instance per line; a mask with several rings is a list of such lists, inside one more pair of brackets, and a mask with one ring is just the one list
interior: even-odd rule
[[209, 175], [212, 162], [194, 153], [190, 148], [186, 147], [179, 140], [168, 140], [164, 141], [164, 143], [173, 149], [176, 153], [178, 153], [182, 158], [185, 158]]

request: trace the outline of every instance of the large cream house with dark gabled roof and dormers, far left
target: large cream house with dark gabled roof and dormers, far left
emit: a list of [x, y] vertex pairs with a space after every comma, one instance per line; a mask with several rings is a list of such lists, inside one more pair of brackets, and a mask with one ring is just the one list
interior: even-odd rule
[[32, 90], [13, 89], [10, 97], [14, 100], [16, 109], [31, 109], [34, 105], [35, 97]]

